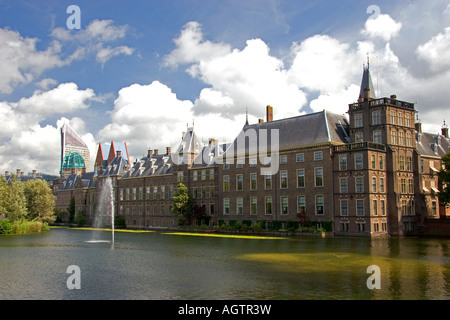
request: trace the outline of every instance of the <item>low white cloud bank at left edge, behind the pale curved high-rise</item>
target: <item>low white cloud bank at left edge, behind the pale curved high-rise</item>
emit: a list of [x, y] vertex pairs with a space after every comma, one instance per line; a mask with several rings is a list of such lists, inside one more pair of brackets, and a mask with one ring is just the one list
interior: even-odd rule
[[73, 121], [74, 128], [88, 143], [91, 153], [95, 153], [94, 136], [86, 132], [82, 119], [62, 118], [55, 125], [41, 124], [49, 116], [86, 110], [95, 99], [92, 89], [80, 90], [74, 83], [62, 83], [49, 91], [35, 91], [32, 96], [17, 102], [0, 102], [1, 168], [21, 169], [24, 172], [37, 169], [58, 174], [61, 150], [59, 128], [64, 121]]

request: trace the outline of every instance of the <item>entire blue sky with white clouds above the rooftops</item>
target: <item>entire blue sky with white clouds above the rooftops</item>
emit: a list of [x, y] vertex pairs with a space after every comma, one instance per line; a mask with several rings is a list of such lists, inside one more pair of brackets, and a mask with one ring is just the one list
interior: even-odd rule
[[[72, 5], [76, 5], [73, 8]], [[377, 97], [450, 122], [450, 4], [434, 1], [0, 0], [0, 174], [57, 175], [60, 128], [132, 160], [245, 123], [345, 114], [363, 66]]]

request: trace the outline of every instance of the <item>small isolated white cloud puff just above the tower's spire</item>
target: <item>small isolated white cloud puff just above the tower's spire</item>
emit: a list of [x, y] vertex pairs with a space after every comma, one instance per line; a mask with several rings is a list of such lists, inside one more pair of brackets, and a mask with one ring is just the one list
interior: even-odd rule
[[401, 22], [395, 21], [388, 14], [379, 14], [376, 18], [367, 19], [361, 33], [369, 38], [390, 41], [397, 36], [401, 28]]

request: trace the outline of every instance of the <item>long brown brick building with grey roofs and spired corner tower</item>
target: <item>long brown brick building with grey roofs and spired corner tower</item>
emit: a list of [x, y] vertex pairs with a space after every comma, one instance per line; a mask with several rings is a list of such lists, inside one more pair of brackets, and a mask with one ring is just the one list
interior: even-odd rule
[[[324, 110], [274, 120], [274, 111], [267, 106], [265, 121], [247, 120], [229, 144], [211, 138], [203, 145], [190, 127], [176, 148], [148, 150], [134, 163], [126, 149], [106, 155], [99, 146], [104, 155], [90, 176], [93, 190], [83, 175], [65, 185], [73, 180], [71, 196], [80, 193], [77, 205], [92, 220], [110, 179], [114, 210], [130, 228], [176, 228], [180, 217], [171, 207], [179, 182], [210, 226], [258, 222], [284, 229], [308, 222], [335, 235], [402, 236], [450, 216], [436, 195], [448, 129], [422, 133], [413, 103], [377, 98], [369, 65], [348, 116]], [[56, 193], [62, 208], [69, 192]]]

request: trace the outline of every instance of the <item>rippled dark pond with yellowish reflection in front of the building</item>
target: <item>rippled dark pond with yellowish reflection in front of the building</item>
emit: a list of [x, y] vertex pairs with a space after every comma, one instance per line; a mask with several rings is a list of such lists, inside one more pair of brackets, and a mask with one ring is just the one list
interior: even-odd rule
[[[165, 231], [116, 231], [114, 239], [68, 228], [0, 236], [0, 299], [450, 298], [448, 239]], [[69, 266], [79, 268], [80, 289], [69, 289]], [[369, 266], [379, 269], [368, 273]], [[379, 289], [369, 288], [369, 277]]]

